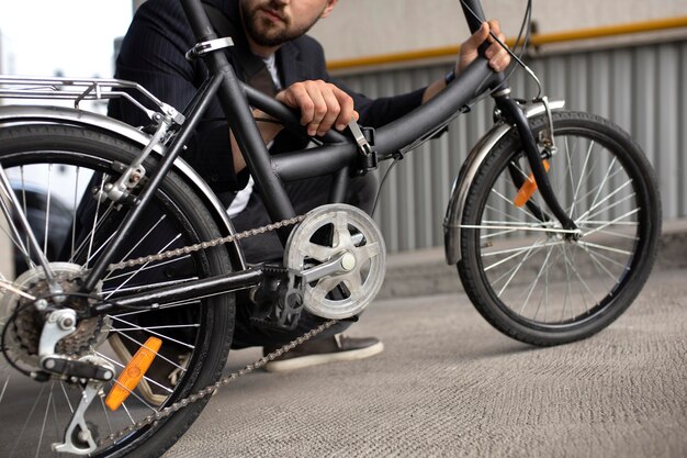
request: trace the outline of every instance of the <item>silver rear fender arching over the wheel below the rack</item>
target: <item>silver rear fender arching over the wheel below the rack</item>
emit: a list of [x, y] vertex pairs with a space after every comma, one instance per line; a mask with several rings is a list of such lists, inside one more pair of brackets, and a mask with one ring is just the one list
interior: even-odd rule
[[[89, 111], [42, 105], [0, 107], [0, 126], [36, 123], [60, 125], [68, 124], [85, 129], [94, 129], [108, 132], [135, 145], [139, 145], [142, 148], [145, 147], [150, 141], [150, 137], [147, 134], [132, 127], [128, 124]], [[153, 152], [153, 154], [158, 156], [162, 156], [164, 153], [165, 149], [161, 146], [156, 147]], [[180, 158], [174, 160], [173, 170], [182, 177], [185, 183], [205, 202], [223, 235], [235, 234], [236, 231], [234, 230], [234, 225], [226, 213], [226, 209], [222, 202], [219, 202], [219, 199], [217, 199], [215, 193], [210, 189], [207, 183], [198, 175], [198, 172]], [[237, 245], [227, 244], [227, 250], [232, 258], [234, 268], [237, 270], [245, 269], [246, 261]]]

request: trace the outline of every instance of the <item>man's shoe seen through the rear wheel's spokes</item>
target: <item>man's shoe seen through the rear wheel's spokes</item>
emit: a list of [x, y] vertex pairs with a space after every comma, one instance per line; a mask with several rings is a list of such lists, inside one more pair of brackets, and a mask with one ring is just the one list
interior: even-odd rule
[[[137, 335], [136, 337], [143, 336]], [[133, 355], [143, 346], [145, 338], [120, 337], [119, 334], [111, 333], [108, 342], [122, 365], [126, 366], [132, 360]], [[171, 389], [183, 375], [189, 359], [188, 351], [183, 351], [176, 346], [170, 348], [170, 344], [167, 344], [168, 348], [164, 348], [165, 346], [162, 344], [159, 355], [136, 387], [142, 398], [154, 406], [162, 405], [169, 394], [171, 394]]]

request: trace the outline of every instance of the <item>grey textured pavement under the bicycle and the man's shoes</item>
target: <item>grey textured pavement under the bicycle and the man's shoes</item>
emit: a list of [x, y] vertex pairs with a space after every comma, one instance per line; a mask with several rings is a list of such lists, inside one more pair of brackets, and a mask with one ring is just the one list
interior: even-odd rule
[[545, 349], [462, 293], [379, 300], [352, 329], [382, 355], [246, 376], [167, 457], [686, 457], [686, 279], [661, 268], [609, 328]]

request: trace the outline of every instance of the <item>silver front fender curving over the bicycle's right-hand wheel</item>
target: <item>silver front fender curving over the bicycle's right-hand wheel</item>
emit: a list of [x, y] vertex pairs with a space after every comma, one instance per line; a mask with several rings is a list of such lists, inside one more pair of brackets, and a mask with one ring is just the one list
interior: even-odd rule
[[[551, 110], [561, 110], [565, 105], [564, 100], [550, 101]], [[545, 112], [542, 103], [525, 105], [525, 115], [530, 119], [539, 116]], [[468, 158], [461, 167], [461, 171], [453, 182], [451, 199], [447, 208], [446, 217], [443, 219], [443, 245], [446, 250], [446, 261], [449, 265], [458, 264], [461, 260], [460, 238], [461, 223], [463, 221], [463, 211], [465, 209], [465, 200], [468, 199], [468, 190], [472, 186], [472, 181], [477, 170], [488, 153], [496, 144], [510, 132], [515, 126], [498, 123], [489, 130], [477, 144], [472, 148]]]

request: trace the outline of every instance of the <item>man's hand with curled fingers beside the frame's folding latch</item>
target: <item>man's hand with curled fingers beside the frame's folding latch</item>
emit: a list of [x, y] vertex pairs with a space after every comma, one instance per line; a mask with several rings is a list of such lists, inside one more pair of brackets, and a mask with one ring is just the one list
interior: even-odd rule
[[323, 80], [296, 82], [278, 93], [277, 100], [301, 112], [301, 124], [311, 136], [325, 135], [333, 126], [342, 131], [351, 118], [358, 120], [353, 99]]

